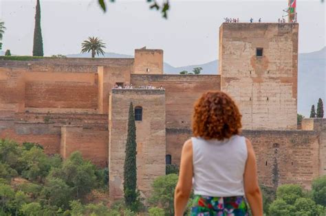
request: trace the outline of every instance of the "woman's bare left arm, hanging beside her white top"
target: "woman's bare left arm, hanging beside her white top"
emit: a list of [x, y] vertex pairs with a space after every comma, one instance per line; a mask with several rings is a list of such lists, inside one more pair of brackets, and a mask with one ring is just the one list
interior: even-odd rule
[[186, 141], [182, 147], [179, 180], [174, 193], [175, 216], [184, 215], [184, 208], [193, 186], [193, 143]]

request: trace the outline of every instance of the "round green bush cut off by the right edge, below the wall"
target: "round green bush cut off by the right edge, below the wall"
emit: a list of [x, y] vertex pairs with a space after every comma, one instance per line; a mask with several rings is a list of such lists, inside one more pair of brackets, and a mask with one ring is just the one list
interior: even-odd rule
[[326, 176], [316, 178], [312, 182], [312, 198], [316, 204], [326, 207]]

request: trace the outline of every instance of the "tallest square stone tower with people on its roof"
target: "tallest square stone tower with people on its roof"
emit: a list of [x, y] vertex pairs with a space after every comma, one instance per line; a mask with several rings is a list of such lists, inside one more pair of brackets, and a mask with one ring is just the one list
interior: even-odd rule
[[219, 71], [244, 129], [296, 129], [298, 23], [223, 23]]

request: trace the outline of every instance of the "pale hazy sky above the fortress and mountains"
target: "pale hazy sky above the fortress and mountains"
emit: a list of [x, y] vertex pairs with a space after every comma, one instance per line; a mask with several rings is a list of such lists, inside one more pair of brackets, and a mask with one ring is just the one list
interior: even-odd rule
[[[146, 46], [164, 49], [164, 61], [175, 67], [202, 64], [217, 59], [218, 29], [224, 17], [277, 21], [287, 8], [287, 0], [170, 3], [165, 20], [149, 10], [146, 0], [116, 0], [105, 14], [97, 0], [41, 0], [45, 56], [79, 53], [83, 40], [98, 36], [107, 43], [105, 51], [133, 55], [135, 48]], [[0, 19], [7, 27], [3, 50], [32, 53], [35, 5], [36, 0], [0, 0]], [[325, 46], [325, 8], [326, 2], [320, 0], [297, 0], [299, 53]]]

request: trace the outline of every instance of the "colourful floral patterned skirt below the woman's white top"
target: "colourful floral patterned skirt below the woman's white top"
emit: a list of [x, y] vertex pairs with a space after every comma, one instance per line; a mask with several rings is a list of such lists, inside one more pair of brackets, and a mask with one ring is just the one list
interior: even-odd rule
[[191, 216], [247, 216], [248, 205], [243, 196], [208, 197], [195, 195]]

